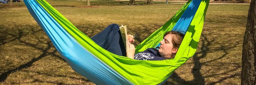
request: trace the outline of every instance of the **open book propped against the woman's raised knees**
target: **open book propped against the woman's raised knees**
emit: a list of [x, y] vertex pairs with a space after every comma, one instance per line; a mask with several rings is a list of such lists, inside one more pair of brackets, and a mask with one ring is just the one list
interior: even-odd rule
[[[125, 49], [126, 49], [126, 46], [127, 46], [127, 39], [128, 39], [128, 37], [127, 37], [127, 28], [126, 28], [126, 25], [125, 26], [121, 26], [121, 27], [119, 27], [119, 29], [120, 29], [120, 33], [121, 33], [121, 36], [122, 36], [122, 39], [123, 39], [123, 45], [125, 45]], [[126, 52], [127, 52], [127, 49], [126, 49]]]

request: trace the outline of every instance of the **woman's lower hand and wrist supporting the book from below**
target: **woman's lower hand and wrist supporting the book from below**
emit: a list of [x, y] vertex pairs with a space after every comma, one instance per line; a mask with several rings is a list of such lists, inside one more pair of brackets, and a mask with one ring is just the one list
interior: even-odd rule
[[128, 45], [126, 46], [127, 52], [126, 52], [126, 56], [128, 58], [134, 59], [134, 53], [135, 53], [135, 47], [133, 44], [131, 44], [130, 42], [128, 42]]

